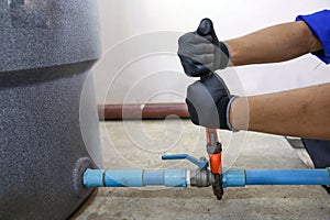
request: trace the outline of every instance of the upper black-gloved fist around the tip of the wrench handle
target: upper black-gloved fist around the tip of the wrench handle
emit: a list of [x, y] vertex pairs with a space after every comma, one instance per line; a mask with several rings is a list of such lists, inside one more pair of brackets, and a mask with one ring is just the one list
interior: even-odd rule
[[188, 76], [200, 77], [209, 72], [223, 69], [229, 64], [229, 51], [219, 42], [211, 20], [201, 20], [196, 32], [178, 40], [178, 56]]

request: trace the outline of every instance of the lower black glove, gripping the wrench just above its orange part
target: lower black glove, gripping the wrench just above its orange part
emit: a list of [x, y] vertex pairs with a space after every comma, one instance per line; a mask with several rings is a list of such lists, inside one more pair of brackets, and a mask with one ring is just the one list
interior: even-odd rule
[[186, 103], [193, 123], [211, 129], [232, 130], [228, 123], [228, 106], [234, 97], [217, 74], [204, 76], [187, 89]]

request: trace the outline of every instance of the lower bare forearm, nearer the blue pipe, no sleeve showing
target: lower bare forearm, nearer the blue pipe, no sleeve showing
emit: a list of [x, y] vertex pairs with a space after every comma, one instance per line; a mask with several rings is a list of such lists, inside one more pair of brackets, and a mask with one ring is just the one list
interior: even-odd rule
[[239, 130], [330, 140], [330, 84], [237, 98], [230, 122]]

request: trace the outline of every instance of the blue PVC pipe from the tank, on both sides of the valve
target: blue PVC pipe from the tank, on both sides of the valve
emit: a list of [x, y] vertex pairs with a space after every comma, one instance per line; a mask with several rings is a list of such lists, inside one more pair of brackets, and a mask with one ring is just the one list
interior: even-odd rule
[[[87, 169], [86, 187], [187, 187], [187, 169]], [[245, 185], [330, 185], [329, 169], [237, 169], [222, 174], [222, 186]]]

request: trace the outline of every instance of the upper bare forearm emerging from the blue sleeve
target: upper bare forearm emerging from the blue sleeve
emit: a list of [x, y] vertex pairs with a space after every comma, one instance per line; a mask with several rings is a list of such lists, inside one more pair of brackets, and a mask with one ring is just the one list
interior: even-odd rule
[[270, 26], [224, 43], [234, 66], [284, 62], [322, 48], [302, 21]]

